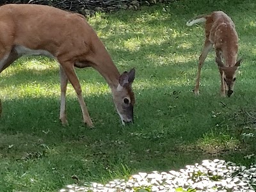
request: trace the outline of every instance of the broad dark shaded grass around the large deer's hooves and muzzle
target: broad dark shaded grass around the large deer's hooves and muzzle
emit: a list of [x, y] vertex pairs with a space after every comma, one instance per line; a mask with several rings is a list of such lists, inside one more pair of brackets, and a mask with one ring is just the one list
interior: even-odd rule
[[[173, 166], [179, 168], [205, 157], [225, 158], [227, 154], [229, 157], [236, 153], [235, 148], [241, 145], [239, 141], [236, 145], [221, 144], [224, 147], [214, 154], [204, 150], [204, 146], [209, 144], [214, 148], [216, 143], [209, 141], [203, 145], [201, 141], [205, 141], [212, 130], [216, 131], [216, 137], [212, 135], [210, 140], [218, 138], [220, 132], [230, 134], [228, 138], [232, 138], [232, 133], [227, 132], [230, 122], [225, 119], [232, 115], [232, 111], [239, 109], [236, 101], [241, 100], [243, 95], [238, 92], [236, 97], [223, 99], [218, 96], [218, 92], [212, 95], [211, 90], [203, 92], [200, 97], [194, 97], [189, 88], [159, 86], [140, 90], [134, 109], [135, 124], [127, 127], [122, 126], [110, 94], [86, 97], [95, 129], [83, 125], [76, 98], [67, 100], [69, 125], [66, 127], [58, 122], [60, 102], [56, 98], [4, 100], [0, 120], [1, 136], [5, 138], [1, 140], [2, 156], [20, 159], [24, 158], [24, 153], [34, 150], [40, 154], [45, 150], [44, 146], [47, 146], [49, 149], [46, 150], [61, 148], [61, 152], [58, 152], [60, 157], [65, 156], [63, 153], [66, 150], [72, 150], [72, 156], [77, 157], [83, 154], [94, 158], [97, 154], [95, 158], [101, 164], [106, 164], [106, 158], [109, 158], [109, 164], [122, 159], [120, 161], [132, 168], [149, 171]], [[205, 87], [205, 90], [209, 88]], [[218, 116], [214, 117], [215, 114]], [[22, 135], [23, 139], [17, 139], [22, 138]], [[232, 140], [228, 139], [227, 142]], [[76, 145], [79, 145], [79, 150], [74, 149]], [[163, 160], [161, 163], [159, 158]]]

